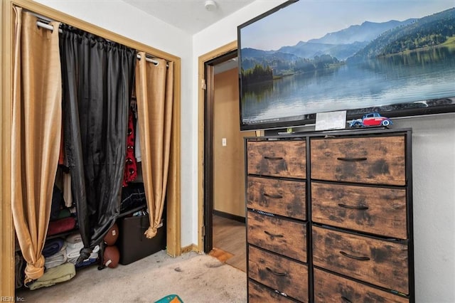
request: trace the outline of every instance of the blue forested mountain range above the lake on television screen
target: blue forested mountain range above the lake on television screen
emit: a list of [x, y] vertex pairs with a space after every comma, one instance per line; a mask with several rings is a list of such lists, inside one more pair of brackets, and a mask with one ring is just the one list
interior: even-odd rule
[[[269, 66], [275, 76], [333, 64], [359, 62], [417, 48], [434, 47], [455, 35], [455, 8], [423, 18], [375, 23], [365, 21], [322, 38], [299, 41], [278, 50], [242, 48], [242, 69]], [[453, 38], [455, 40], [455, 38]], [[455, 41], [451, 41], [455, 43]]]

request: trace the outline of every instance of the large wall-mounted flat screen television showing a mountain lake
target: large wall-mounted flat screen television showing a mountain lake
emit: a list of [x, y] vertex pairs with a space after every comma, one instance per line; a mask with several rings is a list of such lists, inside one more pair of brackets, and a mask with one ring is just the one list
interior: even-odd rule
[[455, 112], [453, 1], [287, 1], [237, 41], [241, 130]]

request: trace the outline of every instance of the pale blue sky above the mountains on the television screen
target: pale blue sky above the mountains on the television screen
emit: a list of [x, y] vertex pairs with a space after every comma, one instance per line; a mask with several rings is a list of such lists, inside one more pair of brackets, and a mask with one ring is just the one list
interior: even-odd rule
[[[455, 6], [454, 0], [299, 0], [242, 28], [242, 48], [277, 50], [321, 38], [364, 21], [404, 21]], [[282, 11], [287, 20], [283, 22]], [[267, 39], [264, 39], [267, 36]]]

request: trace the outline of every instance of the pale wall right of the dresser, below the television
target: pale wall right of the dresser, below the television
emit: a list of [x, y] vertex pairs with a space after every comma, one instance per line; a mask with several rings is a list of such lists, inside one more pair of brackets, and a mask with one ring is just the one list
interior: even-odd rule
[[455, 302], [455, 114], [400, 127], [412, 128], [416, 302]]

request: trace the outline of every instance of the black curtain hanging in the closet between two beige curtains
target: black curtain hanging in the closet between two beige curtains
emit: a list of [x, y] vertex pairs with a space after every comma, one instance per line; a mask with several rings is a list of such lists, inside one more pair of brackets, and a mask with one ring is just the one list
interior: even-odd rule
[[73, 201], [89, 257], [120, 210], [136, 51], [60, 26], [63, 140]]

